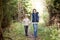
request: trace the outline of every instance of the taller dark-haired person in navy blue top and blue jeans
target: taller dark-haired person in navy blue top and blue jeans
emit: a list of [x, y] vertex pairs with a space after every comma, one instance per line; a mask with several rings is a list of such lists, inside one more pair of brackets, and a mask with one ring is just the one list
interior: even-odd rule
[[36, 11], [36, 9], [33, 9], [33, 12], [32, 12], [32, 23], [33, 23], [34, 37], [35, 38], [37, 37], [38, 22], [39, 22], [38, 12]]

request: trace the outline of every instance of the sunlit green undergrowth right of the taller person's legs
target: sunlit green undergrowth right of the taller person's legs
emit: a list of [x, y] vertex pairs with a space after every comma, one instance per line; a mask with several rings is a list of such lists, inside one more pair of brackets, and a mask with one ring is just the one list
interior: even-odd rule
[[[50, 28], [51, 27], [51, 28]], [[60, 40], [60, 37], [58, 37], [60, 34], [60, 31], [57, 30], [56, 25], [55, 26], [49, 26], [43, 27], [42, 25], [38, 28], [38, 34], [41, 38], [41, 40]]]

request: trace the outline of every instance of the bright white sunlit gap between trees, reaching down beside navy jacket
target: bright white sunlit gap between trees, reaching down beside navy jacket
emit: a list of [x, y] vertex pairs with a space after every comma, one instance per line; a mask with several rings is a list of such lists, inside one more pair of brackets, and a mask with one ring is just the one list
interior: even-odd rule
[[46, 8], [46, 0], [31, 0], [32, 2], [32, 9], [36, 9], [39, 12], [40, 16], [40, 23], [44, 23], [44, 19], [42, 18], [44, 11], [48, 13]]

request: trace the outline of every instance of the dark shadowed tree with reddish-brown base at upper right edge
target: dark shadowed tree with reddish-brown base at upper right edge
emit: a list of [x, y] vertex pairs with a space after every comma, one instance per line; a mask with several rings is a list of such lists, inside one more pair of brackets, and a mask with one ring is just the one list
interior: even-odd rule
[[47, 4], [50, 15], [49, 24], [57, 24], [60, 27], [60, 0], [50, 0]]

